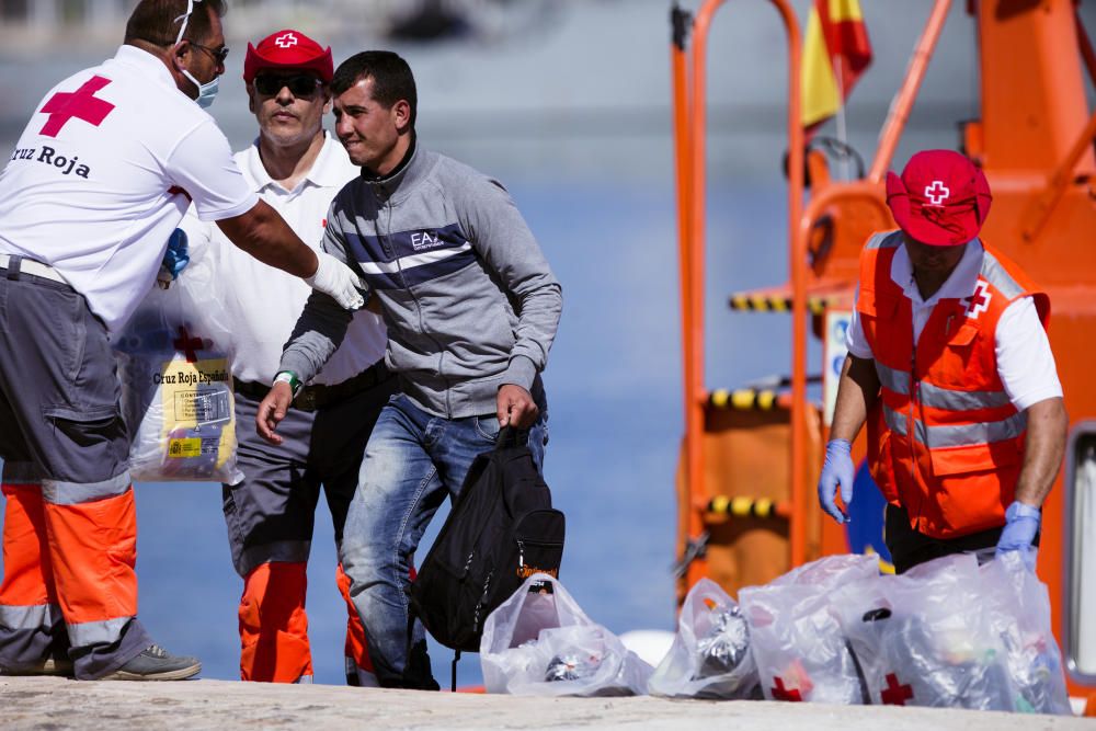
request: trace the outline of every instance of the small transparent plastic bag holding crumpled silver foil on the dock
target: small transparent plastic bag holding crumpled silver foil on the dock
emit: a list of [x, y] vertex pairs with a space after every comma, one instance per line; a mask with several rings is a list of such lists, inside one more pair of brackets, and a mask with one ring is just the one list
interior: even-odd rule
[[719, 584], [701, 579], [685, 597], [677, 635], [648, 684], [652, 695], [686, 698], [761, 698], [750, 627]]

